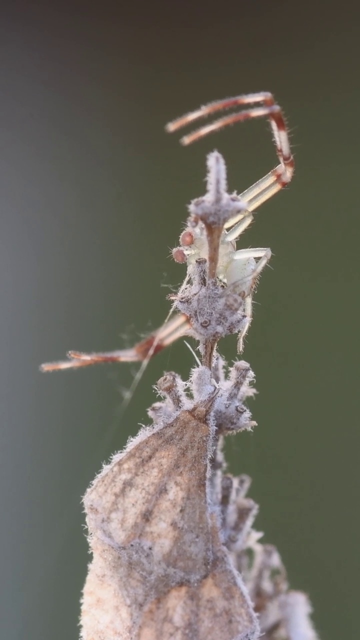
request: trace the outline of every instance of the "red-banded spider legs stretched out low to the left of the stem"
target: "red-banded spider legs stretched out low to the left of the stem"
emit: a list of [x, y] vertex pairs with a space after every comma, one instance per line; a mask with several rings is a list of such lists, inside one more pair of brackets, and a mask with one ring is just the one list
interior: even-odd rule
[[59, 371], [60, 369], [78, 369], [102, 362], [143, 362], [165, 349], [181, 336], [186, 335], [190, 323], [184, 314], [177, 314], [147, 338], [141, 340], [131, 349], [104, 351], [103, 353], [81, 353], [69, 351], [69, 360], [45, 362], [40, 371]]

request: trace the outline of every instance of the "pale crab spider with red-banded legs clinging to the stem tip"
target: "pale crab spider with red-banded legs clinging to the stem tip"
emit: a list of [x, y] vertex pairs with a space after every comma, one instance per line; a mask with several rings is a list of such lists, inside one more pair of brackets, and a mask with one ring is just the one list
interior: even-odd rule
[[[210, 154], [208, 157], [208, 192], [204, 198], [198, 198], [190, 205], [190, 213], [193, 215], [193, 220], [197, 220], [197, 223], [184, 230], [180, 236], [180, 246], [173, 251], [174, 259], [177, 262], [186, 262], [189, 271], [197, 261], [201, 259], [208, 260], [208, 277], [218, 279], [225, 287], [238, 292], [243, 298], [245, 318], [238, 337], [239, 351], [242, 351], [243, 338], [252, 318], [252, 292], [261, 270], [270, 259], [271, 252], [270, 249], [264, 248], [236, 250], [236, 241], [252, 221], [251, 212], [286, 186], [293, 176], [294, 160], [291, 155], [288, 129], [284, 116], [279, 105], [275, 103], [273, 95], [268, 92], [261, 92], [211, 102], [200, 107], [197, 111], [192, 111], [181, 118], [177, 118], [177, 120], [170, 122], [166, 126], [168, 132], [174, 132], [202, 117], [224, 109], [245, 105], [249, 105], [250, 108], [200, 127], [200, 129], [181, 138], [181, 143], [189, 145], [211, 132], [219, 131], [236, 122], [244, 122], [252, 118], [267, 118], [272, 128], [279, 164], [239, 196], [229, 196], [225, 193], [225, 164], [223, 170], [221, 170], [221, 167], [218, 171], [215, 168], [219, 158], [221, 159], [220, 164], [221, 161], [224, 163], [222, 156], [217, 152]], [[211, 157], [213, 158], [212, 173]], [[213, 236], [209, 235], [209, 229], [201, 221], [199, 210], [204, 204], [215, 207], [216, 200], [220, 196], [226, 196], [230, 203], [233, 202], [236, 205], [234, 206], [234, 214], [227, 216], [227, 219], [218, 228], [217, 237], [214, 237], [214, 234]], [[186, 335], [190, 329], [191, 322], [189, 317], [186, 314], [176, 314], [174, 317], [168, 317], [163, 326], [138, 342], [131, 349], [87, 354], [70, 351], [68, 353], [69, 360], [45, 363], [41, 365], [41, 369], [42, 371], [56, 371], [58, 369], [85, 367], [99, 362], [145, 361], [175, 340]]]

